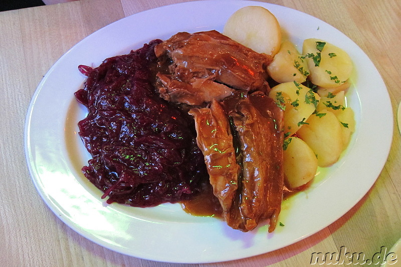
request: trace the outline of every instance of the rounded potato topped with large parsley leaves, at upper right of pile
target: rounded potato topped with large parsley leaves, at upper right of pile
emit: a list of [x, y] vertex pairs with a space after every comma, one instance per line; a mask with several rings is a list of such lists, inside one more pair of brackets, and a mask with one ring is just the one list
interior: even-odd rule
[[306, 39], [303, 43], [302, 54], [308, 63], [310, 81], [319, 87], [338, 87], [344, 84], [351, 75], [353, 66], [348, 54], [327, 42]]

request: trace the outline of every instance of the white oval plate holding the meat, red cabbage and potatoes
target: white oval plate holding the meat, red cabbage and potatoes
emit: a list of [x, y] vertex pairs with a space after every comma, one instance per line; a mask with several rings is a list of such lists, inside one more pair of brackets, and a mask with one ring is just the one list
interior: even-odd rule
[[[283, 203], [274, 233], [261, 225], [252, 232], [233, 230], [216, 218], [186, 214], [179, 204], [154, 208], [106, 205], [102, 193], [80, 168], [89, 154], [77, 135], [86, 110], [73, 93], [85, 77], [78, 65], [98, 66], [144, 43], [180, 32], [222, 31], [244, 6], [269, 9], [302, 47], [318, 38], [347, 51], [355, 64], [348, 106], [355, 111], [356, 132], [340, 160], [322, 169], [311, 188]], [[365, 79], [363, 77], [368, 77]], [[380, 107], [377, 112], [374, 107]], [[225, 261], [272, 251], [299, 241], [337, 220], [375, 182], [392, 138], [392, 111], [385, 85], [369, 58], [344, 34], [304, 13], [250, 1], [201, 1], [145, 11], [117, 21], [82, 40], [49, 70], [29, 107], [25, 146], [37, 190], [62, 221], [109, 249], [145, 259], [200, 263]], [[295, 201], [294, 201], [295, 200]]]

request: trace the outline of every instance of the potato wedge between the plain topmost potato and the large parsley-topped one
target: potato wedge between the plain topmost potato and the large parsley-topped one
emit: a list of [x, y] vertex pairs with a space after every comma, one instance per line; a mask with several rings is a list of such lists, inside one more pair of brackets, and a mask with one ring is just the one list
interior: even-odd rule
[[292, 81], [303, 83], [309, 75], [308, 64], [290, 41], [284, 41], [281, 44], [279, 52], [267, 67], [267, 71], [278, 83]]

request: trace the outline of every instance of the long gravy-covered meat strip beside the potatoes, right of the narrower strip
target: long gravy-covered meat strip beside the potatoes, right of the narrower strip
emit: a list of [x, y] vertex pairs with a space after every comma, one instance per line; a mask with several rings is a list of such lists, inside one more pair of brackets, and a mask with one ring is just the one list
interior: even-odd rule
[[230, 115], [239, 134], [243, 159], [239, 209], [245, 223], [237, 226], [248, 231], [269, 218], [271, 232], [283, 198], [283, 112], [272, 99], [255, 92], [240, 100], [236, 112]]

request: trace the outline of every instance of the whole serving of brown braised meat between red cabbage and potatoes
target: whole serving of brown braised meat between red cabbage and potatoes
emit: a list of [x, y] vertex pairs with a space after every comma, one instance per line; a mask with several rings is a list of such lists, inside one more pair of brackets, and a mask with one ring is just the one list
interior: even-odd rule
[[178, 33], [155, 47], [160, 96], [189, 105], [214, 195], [229, 226], [254, 229], [283, 198], [283, 111], [267, 96], [271, 57], [217, 31]]

